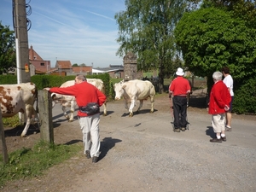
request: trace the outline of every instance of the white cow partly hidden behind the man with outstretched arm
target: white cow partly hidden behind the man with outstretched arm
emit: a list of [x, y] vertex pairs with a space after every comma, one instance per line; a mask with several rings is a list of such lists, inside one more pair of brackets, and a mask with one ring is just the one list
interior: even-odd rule
[[[96, 86], [96, 88], [98, 90], [101, 90], [103, 93], [105, 93], [105, 87], [103, 84], [102, 79], [87, 79], [87, 82], [89, 84], [93, 84], [94, 86]], [[61, 84], [60, 87], [68, 87], [74, 84], [74, 80], [69, 80], [67, 82], [65, 82], [64, 84]], [[55, 107], [56, 103], [61, 103], [62, 106], [62, 111], [64, 116], [68, 119], [68, 121], [73, 121], [73, 113], [75, 110], [75, 107], [77, 105], [76, 99], [74, 96], [64, 96], [61, 94], [57, 94], [57, 93], [52, 93], [51, 94], [52, 98], [53, 98], [53, 106]], [[67, 115], [67, 107], [70, 108], [70, 117]], [[107, 115], [107, 102], [105, 102], [103, 104], [104, 107], [104, 113], [103, 115], [106, 116]]]

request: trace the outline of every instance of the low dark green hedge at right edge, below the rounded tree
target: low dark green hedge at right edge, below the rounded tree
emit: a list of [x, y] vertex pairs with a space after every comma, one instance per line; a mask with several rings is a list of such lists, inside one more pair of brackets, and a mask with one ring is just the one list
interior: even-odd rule
[[249, 79], [235, 90], [233, 112], [256, 113], [256, 79]]

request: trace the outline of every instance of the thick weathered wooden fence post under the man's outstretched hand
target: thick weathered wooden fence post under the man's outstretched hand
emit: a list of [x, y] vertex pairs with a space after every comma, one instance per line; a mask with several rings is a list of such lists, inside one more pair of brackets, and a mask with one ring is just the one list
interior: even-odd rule
[[43, 141], [54, 143], [52, 99], [47, 90], [38, 90], [38, 108], [41, 124], [40, 137]]

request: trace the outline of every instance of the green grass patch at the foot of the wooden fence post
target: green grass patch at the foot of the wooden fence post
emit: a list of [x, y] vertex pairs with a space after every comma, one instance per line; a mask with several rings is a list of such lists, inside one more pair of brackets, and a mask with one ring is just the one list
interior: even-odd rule
[[49, 167], [70, 159], [80, 151], [82, 146], [55, 145], [38, 142], [33, 148], [21, 148], [9, 154], [9, 162], [3, 163], [0, 157], [0, 188], [5, 183], [21, 178], [38, 177]]

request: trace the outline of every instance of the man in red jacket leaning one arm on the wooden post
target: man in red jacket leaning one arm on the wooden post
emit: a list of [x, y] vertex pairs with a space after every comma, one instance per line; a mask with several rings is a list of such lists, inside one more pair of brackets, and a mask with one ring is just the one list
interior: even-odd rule
[[106, 96], [94, 85], [86, 82], [84, 75], [77, 75], [75, 84], [69, 87], [44, 88], [61, 95], [75, 96], [79, 106], [79, 124], [83, 132], [84, 154], [96, 163], [100, 154], [100, 107]]

